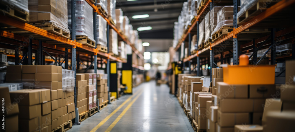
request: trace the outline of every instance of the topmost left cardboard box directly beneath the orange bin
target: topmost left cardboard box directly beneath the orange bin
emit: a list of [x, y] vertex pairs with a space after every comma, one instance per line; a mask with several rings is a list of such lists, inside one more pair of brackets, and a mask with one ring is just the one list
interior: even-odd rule
[[232, 85], [217, 82], [217, 96], [223, 98], [248, 98], [248, 85]]

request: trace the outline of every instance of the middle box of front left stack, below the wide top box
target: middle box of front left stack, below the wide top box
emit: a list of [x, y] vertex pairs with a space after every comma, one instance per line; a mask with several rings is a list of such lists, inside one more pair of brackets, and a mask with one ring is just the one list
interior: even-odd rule
[[41, 105], [19, 106], [19, 119], [33, 119], [41, 116]]

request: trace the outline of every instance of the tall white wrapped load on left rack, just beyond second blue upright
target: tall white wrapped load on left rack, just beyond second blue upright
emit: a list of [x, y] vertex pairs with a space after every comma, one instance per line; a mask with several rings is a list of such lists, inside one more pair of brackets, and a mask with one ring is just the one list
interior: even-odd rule
[[106, 46], [107, 38], [106, 38], [106, 20], [101, 16], [97, 15], [97, 44]]

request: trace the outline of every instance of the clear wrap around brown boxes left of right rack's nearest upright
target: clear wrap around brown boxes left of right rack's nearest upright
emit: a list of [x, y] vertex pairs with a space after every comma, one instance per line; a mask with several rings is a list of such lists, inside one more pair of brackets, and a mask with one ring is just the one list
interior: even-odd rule
[[211, 33], [211, 36], [224, 26], [234, 26], [234, 6], [224, 6], [217, 13], [217, 25], [214, 31]]

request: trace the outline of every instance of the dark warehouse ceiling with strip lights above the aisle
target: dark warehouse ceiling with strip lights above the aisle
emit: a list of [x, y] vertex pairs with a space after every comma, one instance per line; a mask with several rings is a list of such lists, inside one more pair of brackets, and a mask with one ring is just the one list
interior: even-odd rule
[[[178, 21], [183, 2], [185, 0], [117, 0], [116, 8], [121, 8], [123, 14], [126, 15], [133, 29], [137, 30], [138, 27], [151, 26], [152, 30], [138, 31], [139, 36], [145, 40], [149, 40], [150, 46], [145, 47], [147, 51], [159, 52], [166, 51], [167, 40], [173, 39], [174, 22]], [[148, 14], [148, 18], [133, 19], [134, 15]], [[152, 39], [157, 39], [158, 42]], [[149, 42], [149, 43], [150, 43]], [[165, 42], [162, 43], [162, 42]], [[170, 42], [170, 41], [169, 41]], [[162, 44], [165, 46], [159, 46]], [[158, 48], [157, 48], [158, 47]]]

